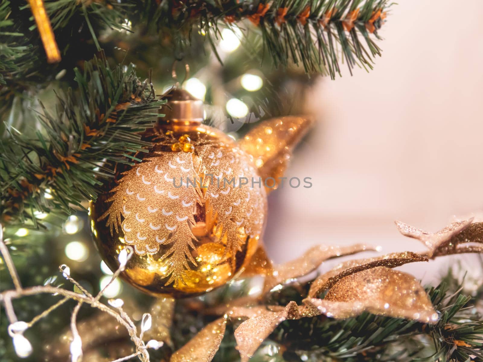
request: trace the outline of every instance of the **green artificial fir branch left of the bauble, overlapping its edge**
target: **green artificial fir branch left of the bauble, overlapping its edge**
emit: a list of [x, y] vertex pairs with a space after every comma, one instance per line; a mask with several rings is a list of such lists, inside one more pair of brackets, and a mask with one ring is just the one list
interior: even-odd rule
[[130, 153], [150, 143], [137, 134], [153, 124], [163, 100], [150, 82], [141, 82], [132, 65], [111, 69], [95, 58], [75, 70], [78, 89], [57, 95], [54, 114], [43, 108], [35, 137], [8, 128], [0, 140], [1, 218], [31, 219], [34, 210], [69, 212], [95, 199], [101, 181], [116, 163], [131, 163]]

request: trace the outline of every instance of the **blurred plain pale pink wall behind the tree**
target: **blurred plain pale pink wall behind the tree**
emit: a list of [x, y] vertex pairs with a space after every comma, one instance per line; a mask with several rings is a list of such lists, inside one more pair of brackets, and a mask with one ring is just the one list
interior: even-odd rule
[[[317, 125], [286, 175], [313, 187], [270, 196], [265, 243], [276, 262], [318, 243], [421, 251], [394, 220], [436, 231], [483, 209], [483, 1], [391, 9], [374, 70], [344, 69], [313, 89]], [[472, 255], [403, 270], [428, 281], [457, 259], [479, 265]]]

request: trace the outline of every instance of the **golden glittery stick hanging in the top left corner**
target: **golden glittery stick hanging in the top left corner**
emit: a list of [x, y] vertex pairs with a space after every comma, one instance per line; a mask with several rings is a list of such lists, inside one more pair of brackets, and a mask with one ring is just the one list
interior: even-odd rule
[[54, 37], [54, 31], [50, 25], [50, 19], [45, 11], [43, 0], [28, 0], [30, 9], [32, 9], [33, 17], [39, 29], [40, 38], [43, 42], [43, 48], [47, 55], [49, 63], [58, 63], [60, 61], [60, 52]]

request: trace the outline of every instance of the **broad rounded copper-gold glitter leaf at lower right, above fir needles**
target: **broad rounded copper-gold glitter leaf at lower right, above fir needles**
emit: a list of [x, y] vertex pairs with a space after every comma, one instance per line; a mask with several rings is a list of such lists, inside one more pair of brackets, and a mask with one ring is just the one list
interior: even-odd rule
[[350, 318], [367, 311], [423, 323], [438, 320], [419, 282], [410, 274], [385, 266], [341, 278], [325, 299], [306, 298], [304, 303], [332, 318]]

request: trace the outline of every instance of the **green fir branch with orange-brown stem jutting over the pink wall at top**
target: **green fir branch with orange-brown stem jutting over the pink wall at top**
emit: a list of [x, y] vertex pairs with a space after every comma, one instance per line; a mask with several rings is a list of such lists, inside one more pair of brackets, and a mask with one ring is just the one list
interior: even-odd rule
[[341, 74], [341, 62], [346, 62], [349, 70], [357, 63], [372, 68], [371, 57], [381, 53], [370, 34], [379, 39], [377, 29], [384, 23], [388, 6], [385, 0], [192, 0], [161, 2], [159, 6], [152, 2], [149, 14], [160, 31], [177, 26], [189, 39], [195, 26], [212, 45], [221, 24], [230, 26], [248, 19], [261, 35], [275, 66], [301, 63], [307, 72], [327, 73], [334, 78]]

